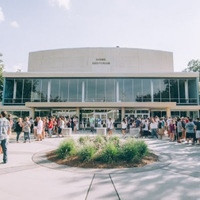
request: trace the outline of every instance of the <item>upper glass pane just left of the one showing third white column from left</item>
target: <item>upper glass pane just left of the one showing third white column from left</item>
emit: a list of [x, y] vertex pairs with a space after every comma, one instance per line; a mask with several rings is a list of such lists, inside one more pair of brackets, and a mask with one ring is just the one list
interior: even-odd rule
[[69, 101], [77, 102], [78, 101], [78, 80], [70, 79], [69, 80]]

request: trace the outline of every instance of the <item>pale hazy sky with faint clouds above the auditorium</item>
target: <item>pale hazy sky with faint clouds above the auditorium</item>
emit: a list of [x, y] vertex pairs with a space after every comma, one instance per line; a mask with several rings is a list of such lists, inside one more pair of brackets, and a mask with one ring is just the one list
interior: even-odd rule
[[173, 52], [174, 70], [200, 59], [200, 0], [0, 0], [5, 71], [29, 52], [128, 47]]

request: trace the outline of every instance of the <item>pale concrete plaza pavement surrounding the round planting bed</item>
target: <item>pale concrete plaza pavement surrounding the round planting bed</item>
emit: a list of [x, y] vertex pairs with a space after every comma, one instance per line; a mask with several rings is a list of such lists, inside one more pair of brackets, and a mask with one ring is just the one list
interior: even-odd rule
[[[75, 135], [73, 137], [78, 137]], [[0, 164], [4, 200], [200, 199], [200, 146], [146, 139], [160, 161], [144, 168], [95, 170], [51, 163], [45, 152], [61, 138], [8, 145]], [[0, 161], [2, 155], [0, 155]]]

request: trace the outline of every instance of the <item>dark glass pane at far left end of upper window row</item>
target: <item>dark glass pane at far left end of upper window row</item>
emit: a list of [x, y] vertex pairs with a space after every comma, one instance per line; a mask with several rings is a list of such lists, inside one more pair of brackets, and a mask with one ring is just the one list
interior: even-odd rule
[[4, 103], [12, 103], [13, 91], [14, 91], [14, 80], [6, 79], [5, 88], [4, 88]]

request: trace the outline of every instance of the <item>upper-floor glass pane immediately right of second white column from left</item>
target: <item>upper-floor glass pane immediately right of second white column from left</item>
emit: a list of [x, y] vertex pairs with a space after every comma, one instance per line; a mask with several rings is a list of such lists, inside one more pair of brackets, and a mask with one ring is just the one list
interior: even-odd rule
[[58, 79], [51, 79], [51, 92], [50, 92], [50, 101], [58, 102], [60, 101], [60, 83]]

